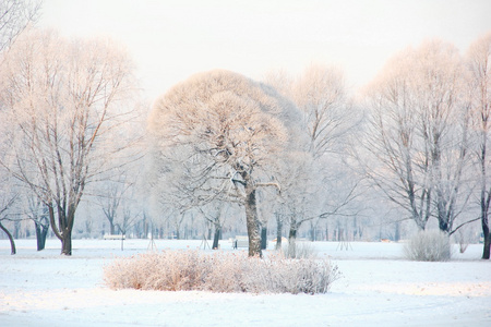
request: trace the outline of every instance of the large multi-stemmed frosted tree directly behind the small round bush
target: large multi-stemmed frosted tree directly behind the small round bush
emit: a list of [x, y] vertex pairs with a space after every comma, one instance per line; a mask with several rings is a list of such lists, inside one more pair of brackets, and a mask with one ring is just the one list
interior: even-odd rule
[[428, 41], [392, 58], [368, 89], [366, 173], [420, 229], [435, 216], [451, 233], [469, 199], [466, 76], [455, 47]]

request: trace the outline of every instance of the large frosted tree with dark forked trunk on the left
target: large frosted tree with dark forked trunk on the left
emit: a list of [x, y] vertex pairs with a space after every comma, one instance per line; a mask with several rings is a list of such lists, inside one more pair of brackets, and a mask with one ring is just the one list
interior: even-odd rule
[[4, 53], [1, 119], [12, 130], [10, 172], [47, 207], [61, 253], [72, 254], [75, 211], [118, 153], [104, 143], [130, 119], [132, 64], [109, 40], [28, 31]]

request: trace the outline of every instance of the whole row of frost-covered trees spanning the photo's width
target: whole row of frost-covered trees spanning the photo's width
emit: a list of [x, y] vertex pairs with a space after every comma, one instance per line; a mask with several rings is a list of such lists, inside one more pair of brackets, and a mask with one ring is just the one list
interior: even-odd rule
[[144, 137], [124, 49], [26, 28], [38, 5], [5, 3], [17, 10], [0, 29], [8, 234], [2, 221], [27, 217], [40, 249], [50, 226], [70, 255], [85, 199], [111, 233], [163, 219], [179, 231], [184, 218], [199, 219], [214, 227], [213, 247], [225, 221], [243, 216], [249, 254], [261, 255], [270, 221], [278, 246], [289, 228], [295, 251], [307, 223], [391, 211], [397, 228], [409, 219], [426, 229], [434, 218], [448, 234], [480, 220], [489, 258], [490, 35], [466, 56], [443, 41], [406, 49], [357, 98], [325, 65], [262, 82], [200, 73], [155, 101]]

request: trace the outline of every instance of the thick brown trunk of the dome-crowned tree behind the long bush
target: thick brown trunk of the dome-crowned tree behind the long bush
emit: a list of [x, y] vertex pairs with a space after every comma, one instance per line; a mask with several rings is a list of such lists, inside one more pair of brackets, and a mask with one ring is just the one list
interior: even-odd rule
[[255, 203], [255, 190], [251, 183], [246, 186], [246, 223], [249, 237], [249, 256], [262, 257], [261, 237], [260, 237], [260, 221], [258, 218], [258, 206]]

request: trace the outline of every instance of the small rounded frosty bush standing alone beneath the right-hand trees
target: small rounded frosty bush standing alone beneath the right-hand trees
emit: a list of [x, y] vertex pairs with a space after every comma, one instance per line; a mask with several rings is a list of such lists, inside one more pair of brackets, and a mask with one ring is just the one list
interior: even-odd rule
[[418, 262], [445, 262], [452, 256], [450, 238], [439, 230], [424, 230], [404, 244], [408, 259]]

